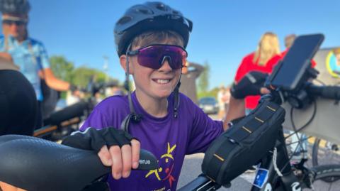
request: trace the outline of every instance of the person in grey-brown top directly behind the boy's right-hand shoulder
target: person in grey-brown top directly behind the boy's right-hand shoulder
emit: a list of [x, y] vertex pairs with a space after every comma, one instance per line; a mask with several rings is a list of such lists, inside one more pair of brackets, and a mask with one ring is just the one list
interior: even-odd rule
[[200, 76], [203, 70], [203, 66], [194, 62], [186, 62], [182, 69], [179, 92], [185, 94], [195, 104], [198, 104], [196, 79]]

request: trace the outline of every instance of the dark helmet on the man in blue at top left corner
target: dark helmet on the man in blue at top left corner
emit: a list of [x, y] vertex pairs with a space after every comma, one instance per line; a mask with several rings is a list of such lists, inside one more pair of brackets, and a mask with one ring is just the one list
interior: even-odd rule
[[30, 11], [30, 3], [27, 0], [0, 0], [1, 13], [27, 14]]

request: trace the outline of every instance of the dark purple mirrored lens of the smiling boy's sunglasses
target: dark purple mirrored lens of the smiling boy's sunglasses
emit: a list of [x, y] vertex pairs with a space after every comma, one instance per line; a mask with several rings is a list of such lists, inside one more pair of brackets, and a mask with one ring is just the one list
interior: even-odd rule
[[159, 69], [164, 56], [170, 57], [169, 65], [176, 70], [186, 62], [187, 54], [183, 48], [175, 45], [150, 45], [140, 49], [137, 60], [142, 66]]

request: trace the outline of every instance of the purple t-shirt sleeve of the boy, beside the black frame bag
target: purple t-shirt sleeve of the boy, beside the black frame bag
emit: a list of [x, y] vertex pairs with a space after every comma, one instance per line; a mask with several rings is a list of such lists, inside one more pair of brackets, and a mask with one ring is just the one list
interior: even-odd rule
[[195, 106], [186, 154], [205, 152], [210, 143], [223, 132], [222, 121], [214, 121], [202, 109]]

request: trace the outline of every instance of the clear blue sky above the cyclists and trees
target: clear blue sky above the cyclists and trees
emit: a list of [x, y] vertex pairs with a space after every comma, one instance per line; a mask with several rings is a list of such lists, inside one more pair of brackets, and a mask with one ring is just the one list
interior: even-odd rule
[[[30, 0], [29, 33], [41, 40], [49, 55], [63, 55], [76, 66], [103, 70], [108, 56], [112, 77], [123, 81], [113, 39], [115, 21], [125, 9], [145, 1]], [[340, 45], [340, 1], [164, 1], [193, 21], [188, 60], [210, 64], [210, 88], [232, 82], [244, 55], [272, 31], [324, 33], [322, 48]]]

